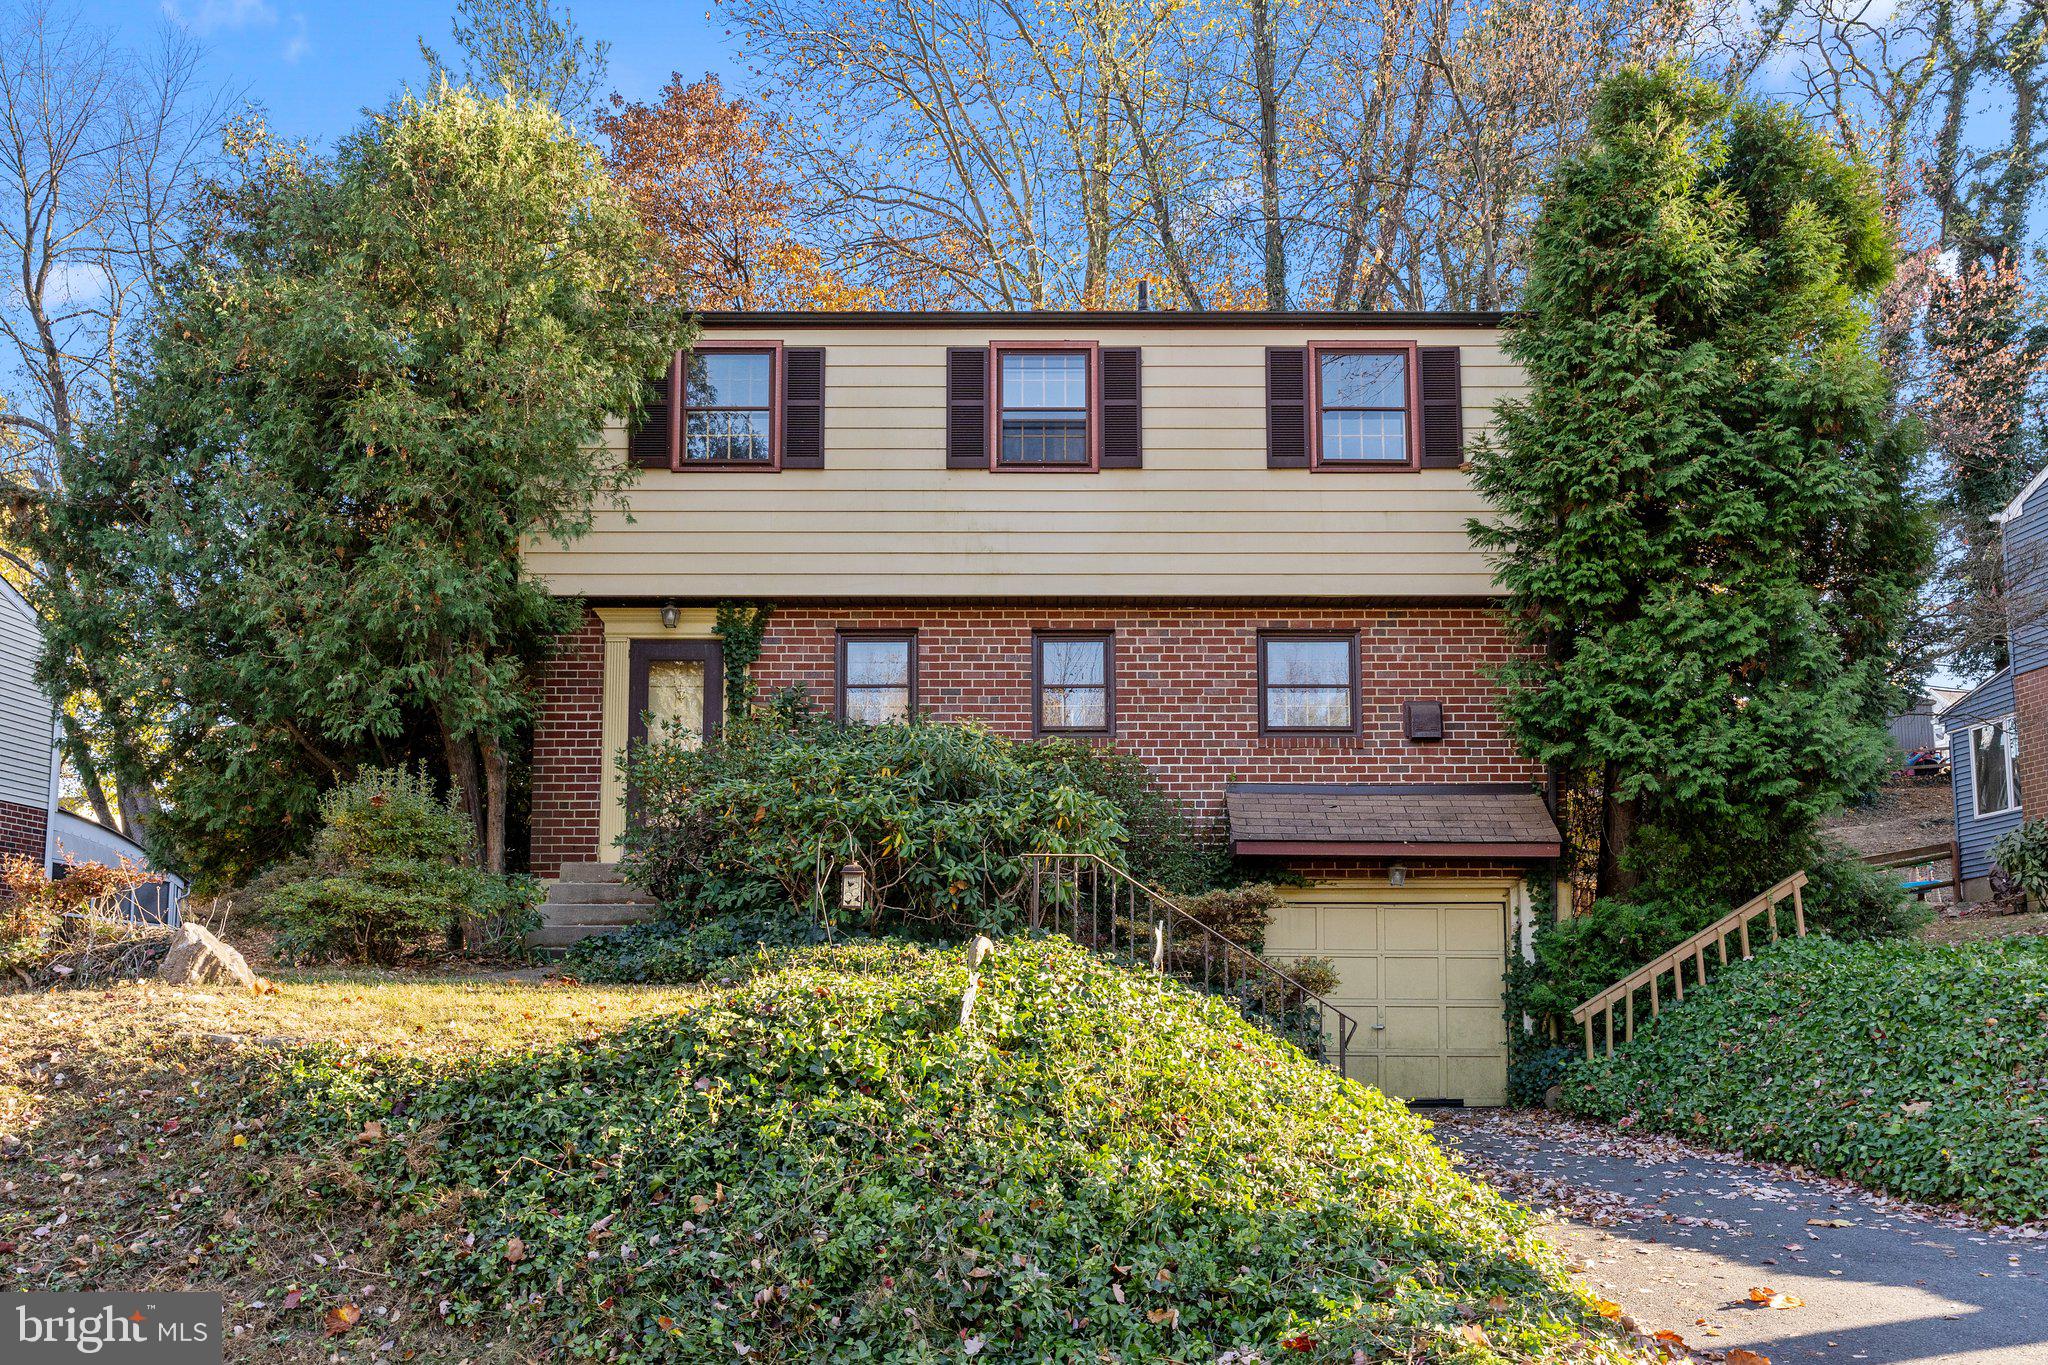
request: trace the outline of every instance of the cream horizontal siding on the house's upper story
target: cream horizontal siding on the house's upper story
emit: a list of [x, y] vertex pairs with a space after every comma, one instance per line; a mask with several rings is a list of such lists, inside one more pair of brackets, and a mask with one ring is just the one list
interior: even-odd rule
[[[1464, 438], [1520, 391], [1491, 327], [885, 325], [707, 338], [825, 352], [825, 469], [643, 471], [526, 565], [592, 598], [1479, 598], [1485, 503], [1452, 469], [1266, 469], [1266, 348], [1458, 346]], [[946, 350], [991, 340], [1143, 348], [1145, 467], [946, 469]], [[625, 430], [606, 432], [623, 458]]]

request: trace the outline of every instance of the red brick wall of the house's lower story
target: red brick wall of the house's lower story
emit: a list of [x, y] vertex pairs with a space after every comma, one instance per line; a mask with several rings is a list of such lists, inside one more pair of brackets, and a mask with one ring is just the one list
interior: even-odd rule
[[[1196, 819], [1219, 821], [1227, 782], [1530, 782], [1493, 706], [1491, 673], [1513, 651], [1485, 606], [780, 606], [754, 679], [834, 704], [840, 630], [918, 632], [918, 708], [1032, 733], [1032, 632], [1116, 632], [1116, 745]], [[1257, 632], [1356, 630], [1358, 735], [1260, 735]], [[594, 618], [547, 673], [535, 739], [532, 864], [596, 857], [602, 630]], [[1409, 743], [1401, 704], [1444, 704], [1444, 739]]]

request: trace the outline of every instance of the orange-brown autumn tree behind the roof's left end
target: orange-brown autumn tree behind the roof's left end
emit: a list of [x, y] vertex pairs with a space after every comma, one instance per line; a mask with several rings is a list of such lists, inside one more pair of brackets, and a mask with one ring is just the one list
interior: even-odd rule
[[649, 282], [696, 309], [862, 307], [797, 239], [797, 188], [780, 170], [772, 125], [727, 100], [717, 76], [670, 76], [653, 104], [612, 96], [596, 129], [604, 164], [655, 237]]

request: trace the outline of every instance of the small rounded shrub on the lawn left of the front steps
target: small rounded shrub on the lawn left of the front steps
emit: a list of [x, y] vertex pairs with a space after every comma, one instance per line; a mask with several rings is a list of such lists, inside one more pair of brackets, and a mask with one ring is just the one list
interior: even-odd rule
[[395, 966], [451, 935], [508, 956], [539, 925], [539, 882], [469, 866], [469, 817], [424, 772], [367, 769], [322, 798], [319, 821], [307, 857], [250, 888], [285, 962]]

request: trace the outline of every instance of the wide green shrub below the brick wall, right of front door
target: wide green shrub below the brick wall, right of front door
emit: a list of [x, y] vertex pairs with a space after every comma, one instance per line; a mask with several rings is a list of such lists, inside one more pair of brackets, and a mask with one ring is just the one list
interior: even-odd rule
[[[700, 749], [631, 759], [625, 874], [680, 923], [801, 915], [844, 931], [1014, 927], [1022, 853], [1116, 855], [1104, 796], [977, 724], [737, 720]], [[858, 862], [868, 907], [840, 907]]]

